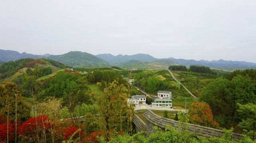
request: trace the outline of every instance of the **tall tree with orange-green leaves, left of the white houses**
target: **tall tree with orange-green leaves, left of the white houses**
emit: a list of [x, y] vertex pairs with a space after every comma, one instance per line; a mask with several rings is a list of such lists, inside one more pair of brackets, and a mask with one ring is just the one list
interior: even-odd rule
[[[99, 83], [100, 84], [100, 83]], [[127, 105], [127, 89], [123, 84], [118, 85], [117, 81], [110, 83], [104, 89], [104, 95], [99, 96], [99, 121], [102, 124], [107, 141], [115, 131], [122, 131], [125, 125], [125, 117], [129, 112]], [[132, 109], [133, 110], [133, 109]]]

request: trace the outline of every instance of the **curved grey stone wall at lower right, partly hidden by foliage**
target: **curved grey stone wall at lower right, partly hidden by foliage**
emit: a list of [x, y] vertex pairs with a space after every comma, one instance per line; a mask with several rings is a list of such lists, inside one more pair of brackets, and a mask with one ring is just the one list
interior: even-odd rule
[[[133, 122], [136, 126], [136, 131], [147, 131], [148, 135], [152, 133], [152, 131], [155, 131], [154, 126], [158, 126], [159, 128], [165, 130], [165, 127], [167, 124], [170, 126], [173, 126], [178, 131], [181, 131], [179, 128], [179, 123], [175, 120], [163, 118], [161, 116], [158, 116], [151, 110], [147, 110], [143, 116], [146, 118], [146, 122], [144, 123], [142, 120], [138, 119], [139, 117], [135, 115], [133, 118]], [[144, 126], [144, 128], [143, 128]], [[188, 131], [196, 133], [198, 136], [206, 137], [207, 139], [210, 139], [210, 137], [222, 137], [223, 131], [220, 129], [214, 129], [214, 128], [208, 128], [204, 126], [198, 126], [194, 124], [189, 124]], [[232, 139], [242, 139], [242, 135], [238, 133], [232, 133]]]

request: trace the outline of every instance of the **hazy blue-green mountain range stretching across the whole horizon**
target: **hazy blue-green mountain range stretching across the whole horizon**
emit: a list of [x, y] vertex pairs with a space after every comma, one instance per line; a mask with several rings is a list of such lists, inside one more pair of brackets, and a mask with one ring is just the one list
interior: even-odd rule
[[[71, 51], [62, 55], [33, 55], [27, 54], [26, 52], [19, 53], [12, 50], [0, 50], [0, 63], [8, 62], [10, 60], [18, 60], [20, 58], [49, 58], [62, 62], [63, 64], [73, 66], [73, 67], [85, 67], [85, 66], [120, 66], [125, 68], [129, 65], [139, 66], [140, 64], [149, 64], [150, 68], [155, 67], [156, 64], [161, 64], [164, 66], [170, 66], [175, 64], [191, 66], [207, 66], [210, 68], [219, 68], [227, 70], [236, 69], [256, 69], [256, 63], [244, 62], [244, 61], [226, 61], [226, 60], [185, 60], [185, 59], [175, 59], [175, 58], [154, 58], [149, 54], [135, 54], [135, 55], [117, 55], [112, 54], [98, 54], [96, 56], [89, 54], [87, 52]], [[131, 61], [132, 60], [132, 61]], [[157, 60], [157, 61], [156, 61]], [[144, 62], [144, 63], [143, 63]], [[155, 62], [155, 63], [154, 63]], [[151, 65], [151, 66], [150, 66]], [[145, 65], [143, 65], [145, 66]], [[140, 67], [143, 67], [142, 65]]]

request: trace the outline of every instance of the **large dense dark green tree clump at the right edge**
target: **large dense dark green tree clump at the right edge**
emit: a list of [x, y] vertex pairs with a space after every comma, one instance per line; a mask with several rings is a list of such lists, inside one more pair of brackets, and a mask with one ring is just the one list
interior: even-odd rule
[[236, 75], [231, 81], [220, 77], [206, 86], [199, 100], [209, 104], [212, 114], [218, 117], [216, 120], [221, 121], [225, 128], [229, 128], [230, 120], [242, 120], [242, 116], [237, 113], [237, 103], [255, 104], [254, 93], [255, 84], [248, 75]]

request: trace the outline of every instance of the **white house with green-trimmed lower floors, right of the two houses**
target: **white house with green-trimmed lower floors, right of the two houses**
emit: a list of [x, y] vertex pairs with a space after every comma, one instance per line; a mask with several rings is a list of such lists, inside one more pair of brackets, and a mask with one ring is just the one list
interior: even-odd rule
[[152, 107], [172, 107], [172, 93], [170, 91], [158, 91], [155, 102], [152, 102]]

